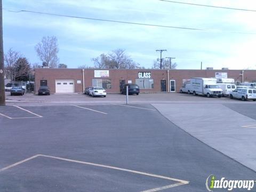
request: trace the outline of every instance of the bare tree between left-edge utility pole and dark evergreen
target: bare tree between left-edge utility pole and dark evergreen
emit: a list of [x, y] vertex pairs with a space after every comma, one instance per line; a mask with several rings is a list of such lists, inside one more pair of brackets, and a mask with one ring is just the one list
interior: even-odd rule
[[5, 72], [7, 76], [10, 76], [12, 81], [15, 81], [17, 75], [17, 60], [21, 57], [21, 54], [17, 51], [13, 51], [10, 48], [6, 54], [4, 54]]

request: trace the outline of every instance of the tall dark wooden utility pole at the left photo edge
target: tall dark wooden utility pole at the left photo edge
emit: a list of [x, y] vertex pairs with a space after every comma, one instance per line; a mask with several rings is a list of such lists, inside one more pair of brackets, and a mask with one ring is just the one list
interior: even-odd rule
[[2, 0], [0, 0], [0, 106], [5, 106], [4, 45], [3, 45], [3, 6], [2, 6]]

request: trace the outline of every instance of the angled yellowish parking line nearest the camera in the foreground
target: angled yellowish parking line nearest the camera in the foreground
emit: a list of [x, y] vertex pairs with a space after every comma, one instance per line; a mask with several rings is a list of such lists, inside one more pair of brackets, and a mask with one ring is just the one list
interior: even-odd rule
[[135, 170], [124, 169], [124, 168], [120, 168], [120, 167], [114, 167], [114, 166], [109, 166], [109, 165], [102, 165], [102, 164], [97, 164], [97, 163], [90, 163], [90, 162], [84, 162], [84, 161], [78, 161], [78, 160], [74, 160], [74, 159], [56, 157], [56, 156], [51, 156], [51, 155], [42, 155], [42, 154], [34, 155], [34, 156], [26, 158], [26, 159], [24, 159], [22, 161], [19, 161], [17, 163], [11, 164], [11, 165], [6, 166], [6, 167], [3, 167], [2, 169], [0, 169], [0, 172], [6, 171], [8, 169], [11, 169], [14, 166], [20, 165], [22, 163], [25, 163], [25, 162], [27, 162], [27, 161], [29, 161], [31, 159], [37, 158], [37, 157], [46, 157], [46, 158], [59, 159], [61, 161], [67, 161], [67, 162], [72, 162], [72, 163], [80, 163], [80, 164], [85, 164], [85, 165], [104, 167], [104, 168], [107, 168], [107, 169], [114, 169], [114, 170], [118, 170], [118, 171], [125, 171], [125, 172], [130, 172], [130, 173], [135, 173], [135, 174], [141, 174], [141, 175], [145, 175], [145, 176], [149, 176], [149, 177], [155, 177], [155, 178], [159, 178], [159, 179], [166, 179], [166, 180], [171, 180], [171, 181], [177, 181], [177, 183], [174, 183], [174, 184], [171, 184], [171, 185], [167, 185], [167, 186], [163, 186], [163, 187], [158, 187], [158, 188], [153, 188], [153, 189], [148, 189], [148, 190], [143, 190], [143, 191], [140, 191], [140, 192], [160, 191], [160, 190], [164, 190], [164, 189], [168, 189], [168, 188], [172, 188], [172, 187], [178, 187], [178, 186], [181, 186], [181, 185], [186, 185], [186, 184], [189, 183], [189, 181], [186, 181], [186, 180], [170, 178], [170, 177], [166, 177], [166, 176], [163, 176], [163, 175], [145, 173], [145, 172], [140, 172], [140, 171], [135, 171]]

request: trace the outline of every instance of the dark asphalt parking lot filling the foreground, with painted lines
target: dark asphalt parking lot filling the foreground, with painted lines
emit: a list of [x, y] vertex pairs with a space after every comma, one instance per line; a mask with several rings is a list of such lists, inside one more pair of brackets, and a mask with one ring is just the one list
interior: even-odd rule
[[[227, 107], [251, 113], [254, 102], [243, 103]], [[206, 191], [210, 174], [255, 180], [152, 105], [113, 104], [0, 107], [0, 191]]]

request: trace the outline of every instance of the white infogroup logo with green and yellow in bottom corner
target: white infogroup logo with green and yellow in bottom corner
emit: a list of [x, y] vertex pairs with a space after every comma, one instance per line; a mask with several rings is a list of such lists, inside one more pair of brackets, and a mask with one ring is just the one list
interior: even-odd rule
[[218, 180], [215, 175], [211, 174], [207, 177], [205, 186], [208, 191], [213, 191], [213, 189], [228, 189], [228, 191], [231, 191], [236, 188], [250, 191], [255, 182], [254, 180], [226, 180], [225, 177]]

